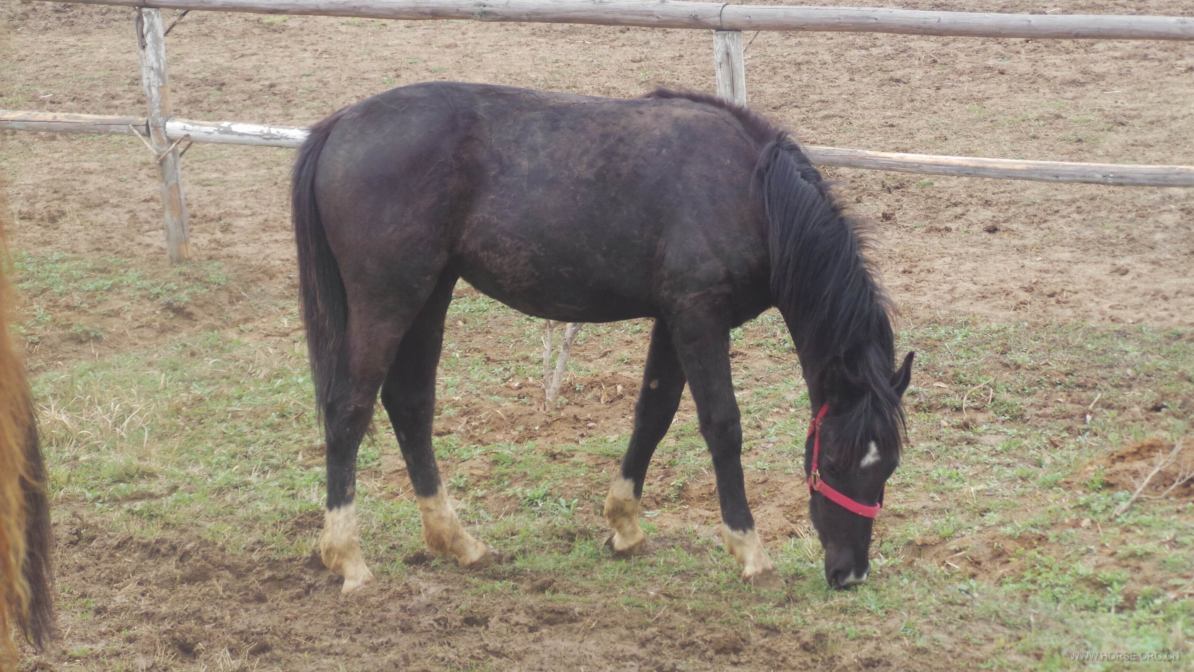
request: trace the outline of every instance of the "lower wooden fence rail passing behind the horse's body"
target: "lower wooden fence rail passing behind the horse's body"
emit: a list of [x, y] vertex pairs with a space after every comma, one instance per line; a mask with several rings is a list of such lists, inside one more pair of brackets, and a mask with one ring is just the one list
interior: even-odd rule
[[[133, 135], [129, 127], [143, 132], [146, 119], [103, 117], [96, 115], [55, 115], [0, 110], [0, 129], [64, 131], [82, 134]], [[236, 122], [166, 122], [171, 141], [253, 144], [258, 147], [298, 147], [307, 137], [301, 127], [242, 124]], [[1139, 166], [1131, 164], [1075, 164], [1067, 161], [1023, 161], [1018, 159], [979, 159], [973, 156], [935, 156], [931, 154], [894, 154], [806, 146], [813, 164], [843, 168], [870, 168], [925, 175], [1001, 178], [1014, 180], [1104, 184], [1114, 186], [1194, 186], [1194, 166]]]

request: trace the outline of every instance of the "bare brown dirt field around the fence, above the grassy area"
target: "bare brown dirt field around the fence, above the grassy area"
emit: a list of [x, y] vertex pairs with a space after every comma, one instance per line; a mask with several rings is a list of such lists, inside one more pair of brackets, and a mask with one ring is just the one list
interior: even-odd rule
[[[1065, 6], [1138, 10], [1112, 1]], [[1188, 5], [1153, 1], [1147, 11], [1182, 14]], [[130, 13], [6, 4], [14, 57], [4, 70], [5, 107], [141, 113]], [[1194, 45], [770, 32], [747, 41], [750, 104], [811, 144], [1194, 164]], [[377, 91], [432, 79], [613, 97], [656, 85], [707, 90], [709, 42], [702, 31], [193, 13], [168, 44], [179, 117], [307, 124]], [[153, 168], [139, 142], [10, 134], [5, 146], [6, 162], [24, 164], [7, 175], [18, 248], [162, 253]], [[290, 267], [290, 155], [214, 146], [187, 153], [197, 258], [259, 265], [267, 275]], [[879, 223], [887, 283], [910, 315], [1194, 320], [1188, 190], [826, 173]]]

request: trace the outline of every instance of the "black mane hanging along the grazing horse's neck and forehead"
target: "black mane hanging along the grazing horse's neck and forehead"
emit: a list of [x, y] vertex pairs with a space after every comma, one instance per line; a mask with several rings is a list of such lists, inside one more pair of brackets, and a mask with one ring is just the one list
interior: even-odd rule
[[[658, 88], [645, 98], [720, 107], [759, 143], [756, 184], [771, 226], [771, 294], [792, 332], [813, 403], [831, 403], [826, 427], [839, 440], [826, 457], [835, 464], [857, 462], [870, 440], [898, 451], [904, 411], [891, 386], [892, 308], [868, 255], [868, 223], [844, 211], [796, 138], [762, 115], [704, 92]], [[789, 184], [796, 187], [786, 189]], [[843, 393], [842, 387], [849, 389]]]

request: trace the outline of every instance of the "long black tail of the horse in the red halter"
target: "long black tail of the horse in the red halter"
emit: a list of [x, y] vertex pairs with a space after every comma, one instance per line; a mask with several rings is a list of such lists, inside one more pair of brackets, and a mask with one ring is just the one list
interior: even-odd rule
[[347, 383], [347, 353], [344, 349], [349, 323], [349, 297], [340, 266], [327, 245], [327, 234], [315, 203], [315, 167], [324, 144], [344, 107], [310, 128], [298, 148], [290, 190], [295, 243], [298, 249], [298, 292], [307, 327], [307, 349], [315, 378], [315, 408], [327, 411], [332, 392]]

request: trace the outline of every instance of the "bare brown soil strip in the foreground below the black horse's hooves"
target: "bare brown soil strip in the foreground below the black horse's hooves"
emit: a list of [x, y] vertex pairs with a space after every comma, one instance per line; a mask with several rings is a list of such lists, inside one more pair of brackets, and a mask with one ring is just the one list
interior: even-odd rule
[[[481, 662], [503, 670], [774, 670], [804, 668], [811, 659], [892, 666], [875, 651], [829, 651], [824, 634], [733, 629], [675, 611], [644, 623], [638, 612], [593, 600], [568, 577], [510, 562], [486, 569], [486, 578], [538, 598], [513, 604], [470, 593], [461, 571], [414, 555], [404, 560], [407, 580], [345, 599], [340, 579], [318, 555], [304, 563], [263, 562], [253, 549], [246, 556], [203, 540], [94, 529], [85, 512], [56, 534], [69, 549], [61, 580], [86, 586], [69, 596], [72, 615], [82, 617], [72, 622], [94, 622], [104, 637], [118, 640], [121, 660], [141, 670], [197, 668], [213, 652], [226, 670], [430, 671]], [[650, 597], [677, 598], [663, 587]]]

